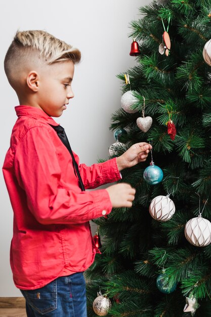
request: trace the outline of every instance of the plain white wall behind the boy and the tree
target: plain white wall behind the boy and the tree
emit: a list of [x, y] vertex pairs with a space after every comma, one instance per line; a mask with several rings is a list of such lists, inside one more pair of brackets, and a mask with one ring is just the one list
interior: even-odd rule
[[[116, 74], [135, 65], [129, 55], [129, 23], [139, 17], [138, 8], [150, 0], [28, 0], [7, 1], [1, 6], [1, 151], [2, 167], [16, 121], [15, 92], [4, 74], [3, 61], [17, 29], [43, 29], [79, 48], [82, 62], [73, 80], [75, 97], [57, 122], [65, 127], [80, 162], [91, 165], [108, 157], [114, 142], [108, 127], [111, 113], [120, 107], [120, 81]], [[0, 173], [0, 297], [20, 296], [9, 264], [13, 212]]]

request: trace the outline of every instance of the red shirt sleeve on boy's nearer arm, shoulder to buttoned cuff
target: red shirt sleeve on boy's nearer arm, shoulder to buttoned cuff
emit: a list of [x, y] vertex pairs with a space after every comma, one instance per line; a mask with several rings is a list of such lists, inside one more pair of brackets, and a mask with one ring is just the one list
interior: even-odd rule
[[34, 127], [21, 139], [15, 152], [16, 178], [35, 219], [41, 224], [76, 224], [109, 214], [112, 205], [107, 190], [77, 192], [61, 179], [50, 135], [49, 129]]

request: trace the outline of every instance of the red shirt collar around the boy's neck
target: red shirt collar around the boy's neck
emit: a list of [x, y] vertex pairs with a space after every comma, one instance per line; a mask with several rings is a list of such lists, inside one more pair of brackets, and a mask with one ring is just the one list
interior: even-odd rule
[[18, 117], [22, 115], [30, 116], [34, 119], [44, 121], [45, 123], [48, 123], [52, 126], [59, 126], [59, 124], [56, 123], [56, 121], [54, 121], [54, 119], [42, 109], [35, 108], [32, 106], [20, 105], [15, 107], [15, 111]]

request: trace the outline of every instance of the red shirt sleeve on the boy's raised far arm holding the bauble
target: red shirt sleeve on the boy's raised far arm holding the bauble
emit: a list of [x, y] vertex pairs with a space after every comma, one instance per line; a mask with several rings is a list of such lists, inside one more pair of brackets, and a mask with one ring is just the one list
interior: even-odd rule
[[96, 188], [121, 179], [116, 157], [103, 163], [93, 164], [92, 166], [80, 164], [79, 171], [85, 188]]

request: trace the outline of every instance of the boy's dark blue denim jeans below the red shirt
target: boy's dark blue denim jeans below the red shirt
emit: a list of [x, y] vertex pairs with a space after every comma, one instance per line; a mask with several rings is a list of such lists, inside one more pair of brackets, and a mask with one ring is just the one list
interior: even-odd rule
[[62, 276], [42, 288], [21, 293], [26, 299], [27, 317], [87, 317], [83, 273]]

